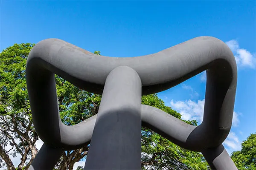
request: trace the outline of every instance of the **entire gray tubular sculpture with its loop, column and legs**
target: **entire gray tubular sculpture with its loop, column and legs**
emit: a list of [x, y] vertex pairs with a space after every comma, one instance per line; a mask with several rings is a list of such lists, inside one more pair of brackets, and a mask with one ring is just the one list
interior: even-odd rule
[[[207, 70], [204, 120], [199, 126], [141, 105], [153, 94]], [[58, 113], [54, 74], [102, 94], [97, 115], [73, 126]], [[236, 61], [214, 37], [197, 37], [141, 57], [97, 56], [58, 39], [36, 44], [27, 59], [26, 81], [35, 130], [44, 142], [30, 170], [53, 169], [64, 150], [90, 143], [84, 169], [141, 169], [141, 126], [201, 151], [212, 169], [236, 170], [222, 142], [230, 132], [237, 84]]]

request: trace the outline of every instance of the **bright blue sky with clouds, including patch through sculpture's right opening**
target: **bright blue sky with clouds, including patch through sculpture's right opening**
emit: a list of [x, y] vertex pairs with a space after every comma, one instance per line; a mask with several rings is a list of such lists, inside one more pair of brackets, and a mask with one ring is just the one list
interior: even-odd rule
[[[91, 52], [101, 51], [104, 56], [134, 57], [198, 36], [213, 36], [227, 42], [238, 63], [238, 86], [233, 127], [224, 145], [229, 153], [240, 150], [240, 143], [256, 132], [255, 1], [0, 3], [1, 51], [15, 43], [58, 38]], [[201, 73], [159, 96], [166, 105], [179, 111], [183, 119], [200, 122], [205, 79]]]

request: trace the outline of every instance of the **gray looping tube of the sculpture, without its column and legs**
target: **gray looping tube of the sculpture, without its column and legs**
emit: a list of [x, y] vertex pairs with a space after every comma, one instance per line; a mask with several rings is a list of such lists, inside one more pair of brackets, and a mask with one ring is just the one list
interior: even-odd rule
[[[172, 120], [180, 129], [173, 127], [169, 132], [169, 125], [163, 120], [166, 114], [143, 106], [148, 114], [163, 115], [154, 118], [163, 125], [151, 119], [154, 113], [147, 116], [145, 123], [190, 150], [218, 147], [226, 139], [233, 117], [237, 68], [230, 48], [214, 37], [197, 37], [155, 54], [126, 58], [98, 56], [58, 39], [38, 42], [26, 64], [27, 88], [38, 136], [47, 145], [65, 150], [88, 144], [96, 116], [74, 126], [65, 126], [58, 113], [54, 74], [86, 91], [102, 94], [108, 75], [119, 66], [128, 66], [137, 72], [142, 95], [172, 88], [207, 70], [204, 121], [200, 126], [184, 128], [184, 124]], [[124, 80], [115, 79], [116, 83]], [[128, 87], [125, 86], [123, 88]]]

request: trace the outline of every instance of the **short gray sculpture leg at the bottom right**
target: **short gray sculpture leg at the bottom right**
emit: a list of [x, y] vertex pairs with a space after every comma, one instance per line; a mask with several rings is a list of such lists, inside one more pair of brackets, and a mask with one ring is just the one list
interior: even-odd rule
[[237, 170], [222, 144], [212, 149], [203, 150], [202, 153], [212, 170]]

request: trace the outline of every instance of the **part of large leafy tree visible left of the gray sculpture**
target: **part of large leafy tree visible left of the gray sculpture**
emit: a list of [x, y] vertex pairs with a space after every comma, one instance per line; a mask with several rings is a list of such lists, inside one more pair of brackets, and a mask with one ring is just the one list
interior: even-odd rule
[[8, 170], [15, 170], [9, 155], [21, 156], [21, 170], [25, 163], [28, 168], [38, 152], [25, 80], [26, 57], [32, 46], [15, 44], [0, 53], [0, 167], [4, 161]]

